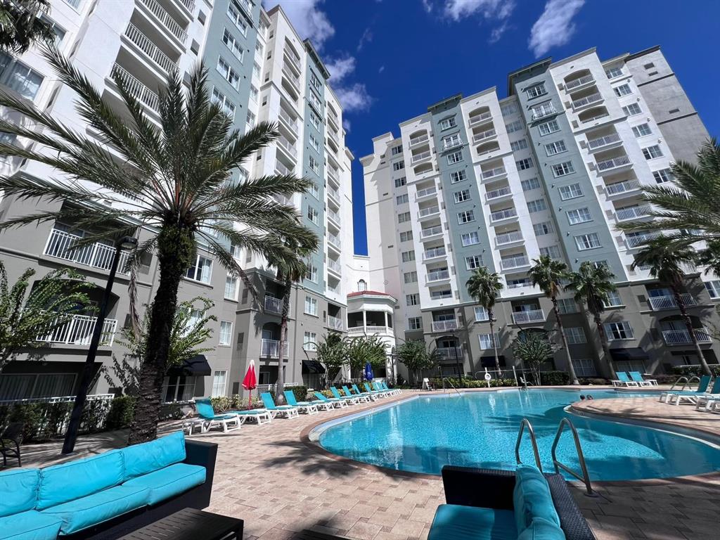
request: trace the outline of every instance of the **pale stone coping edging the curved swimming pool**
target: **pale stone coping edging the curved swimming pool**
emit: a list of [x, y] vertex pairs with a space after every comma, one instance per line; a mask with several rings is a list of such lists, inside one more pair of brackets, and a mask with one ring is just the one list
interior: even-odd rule
[[[587, 387], [582, 387], [582, 388], [587, 388]], [[595, 386], [593, 388], [595, 388], [596, 390], [616, 389], [616, 387], [610, 387], [610, 386], [604, 386], [604, 387]], [[508, 387], [508, 388], [491, 387], [491, 388], [464, 388], [462, 390], [464, 393], [464, 392], [478, 392], [478, 391], [480, 391], [480, 392], [508, 392], [508, 391], [514, 391], [514, 390], [520, 390], [520, 389], [518, 389], [516, 387]], [[531, 388], [530, 390], [564, 390], [567, 392], [577, 392], [577, 389], [569, 388], [567, 386], [565, 386], [565, 387], [553, 387], [553, 386], [534, 387], [534, 388]], [[619, 392], [623, 392], [623, 391], [620, 390]], [[332, 426], [335, 426], [338, 423], [347, 422], [351, 418], [360, 418], [361, 416], [378, 413], [381, 410], [384, 410], [384, 409], [387, 409], [390, 407], [394, 407], [395, 405], [400, 405], [403, 402], [416, 400], [420, 396], [441, 397], [441, 396], [449, 395], [449, 394], [451, 394], [451, 392], [432, 391], [432, 392], [417, 392], [417, 393], [414, 393], [413, 395], [408, 395], [408, 396], [400, 395], [399, 397], [391, 398], [391, 399], [388, 399], [387, 401], [383, 400], [384, 402], [382, 402], [382, 403], [375, 402], [376, 403], [375, 405], [370, 405], [369, 408], [366, 408], [364, 410], [360, 410], [360, 411], [356, 411], [356, 412], [348, 411], [347, 413], [336, 416], [335, 418], [332, 418], [330, 420], [318, 420], [317, 422], [310, 424], [310, 426], [306, 426], [305, 428], [303, 428], [303, 430], [300, 432], [300, 436], [299, 436], [300, 442], [302, 444], [305, 444], [305, 446], [307, 446], [308, 448], [315, 450], [318, 454], [321, 454], [321, 455], [327, 457], [328, 459], [332, 459], [334, 462], [344, 463], [344, 464], [350, 465], [352, 467], [359, 467], [361, 469], [374, 470], [374, 471], [382, 472], [383, 474], [387, 474], [390, 476], [420, 478], [420, 479], [425, 479], [425, 480], [436, 480], [436, 481], [441, 482], [442, 481], [441, 474], [428, 474], [426, 472], [413, 472], [413, 471], [403, 471], [403, 470], [399, 470], [399, 469], [392, 469], [390, 467], [382, 467], [380, 465], [374, 465], [371, 463], [359, 462], [356, 459], [350, 459], [345, 456], [333, 454], [333, 452], [330, 452], [330, 451], [326, 450], [325, 448], [323, 448], [323, 446], [321, 446], [318, 441], [312, 441], [312, 439], [310, 438], [310, 433], [312, 433], [312, 431], [315, 431], [316, 428], [318, 428], [319, 426], [322, 426], [323, 424], [328, 424], [328, 428], [330, 428]], [[626, 399], [626, 398], [611, 397], [608, 399], [613, 400], [613, 399]], [[582, 401], [573, 402], [570, 405], [567, 405], [566, 409], [571, 409], [572, 414], [577, 414], [577, 413], [575, 413], [575, 408], [573, 407], [573, 405], [575, 405], [576, 403], [582, 403]], [[585, 415], [590, 416], [590, 414], [588, 414], [588, 413], [585, 413]], [[615, 420], [609, 420], [609, 421], [617, 421], [618, 423], [626, 423], [626, 424], [630, 424], [630, 425], [633, 425], [633, 424], [639, 425], [638, 422], [631, 422], [631, 421], [629, 421], [629, 420], [631, 420], [630, 418], [624, 418], [623, 415], [617, 414], [617, 413], [615, 413], [615, 414], [613, 414], [613, 413], [593, 413], [593, 416], [599, 420], [608, 420], [607, 417], [612, 417], [612, 418], [615, 418]], [[632, 419], [632, 420], [634, 420], [634, 419]], [[687, 428], [685, 426], [678, 426], [677, 424], [672, 424], [669, 422], [662, 422], [659, 420], [647, 420], [646, 422], [647, 422], [647, 425], [645, 427], [661, 429], [662, 431], [670, 431], [670, 433], [676, 433], [678, 435], [684, 435], [684, 436], [693, 436], [693, 435], [688, 434], [687, 432], [688, 431], [694, 432], [694, 433], [696, 433], [696, 438], [700, 438], [702, 441], [710, 442], [712, 444], [720, 444], [720, 437], [717, 434], [708, 433], [707, 431], [702, 430], [702, 429]], [[665, 426], [666, 428], [667, 427], [682, 428], [686, 433], [680, 433], [680, 431], [672, 431], [672, 429], [662, 429], [657, 426], [652, 426], [652, 424]], [[708, 441], [706, 436], [712, 436], [715, 438], [715, 440]], [[697, 482], [697, 481], [713, 482], [715, 480], [720, 481], [720, 471], [706, 472], [703, 474], [690, 474], [688, 476], [680, 476], [680, 477], [643, 478], [640, 480], [593, 480], [593, 485], [643, 487], [643, 486], [652, 486], [652, 485], [667, 485], [667, 484], [678, 483], [678, 482], [680, 482], [680, 483], [682, 483], [682, 482]], [[567, 482], [569, 484], [575, 485], [577, 487], [582, 487], [582, 482], [579, 482], [577, 480], [567, 480]]]

